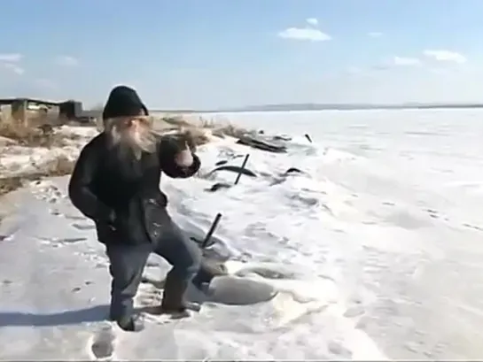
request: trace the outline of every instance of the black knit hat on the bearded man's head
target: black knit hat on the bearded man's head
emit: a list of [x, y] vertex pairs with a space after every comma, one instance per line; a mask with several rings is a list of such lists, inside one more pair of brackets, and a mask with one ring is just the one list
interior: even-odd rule
[[102, 118], [110, 119], [139, 115], [148, 116], [149, 112], [141, 98], [137, 95], [136, 90], [126, 86], [114, 87], [107, 97]]

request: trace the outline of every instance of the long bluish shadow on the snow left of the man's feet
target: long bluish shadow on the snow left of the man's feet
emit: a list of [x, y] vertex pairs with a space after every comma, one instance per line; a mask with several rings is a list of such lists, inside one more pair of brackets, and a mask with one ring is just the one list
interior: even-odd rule
[[0, 327], [55, 327], [106, 320], [109, 305], [93, 305], [74, 311], [48, 314], [30, 312], [0, 312]]

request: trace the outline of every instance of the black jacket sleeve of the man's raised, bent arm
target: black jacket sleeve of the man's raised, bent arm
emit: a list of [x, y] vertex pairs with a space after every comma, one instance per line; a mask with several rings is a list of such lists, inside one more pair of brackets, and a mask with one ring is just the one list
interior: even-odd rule
[[197, 173], [201, 161], [199, 157], [191, 152], [193, 156], [193, 163], [189, 167], [178, 166], [175, 163], [175, 155], [181, 150], [179, 142], [172, 136], [163, 136], [160, 139], [159, 158], [161, 171], [166, 173], [169, 177], [175, 179], [186, 179]]

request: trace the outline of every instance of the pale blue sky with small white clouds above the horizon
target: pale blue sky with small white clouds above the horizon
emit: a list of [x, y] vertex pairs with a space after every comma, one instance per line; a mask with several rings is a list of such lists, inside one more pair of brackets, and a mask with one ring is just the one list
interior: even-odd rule
[[483, 0], [19, 0], [0, 34], [0, 96], [483, 101]]

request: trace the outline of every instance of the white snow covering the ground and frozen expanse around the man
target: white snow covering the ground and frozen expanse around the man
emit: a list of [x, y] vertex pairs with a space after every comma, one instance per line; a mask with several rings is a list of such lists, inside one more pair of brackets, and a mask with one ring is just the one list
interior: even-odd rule
[[[98, 340], [116, 359], [481, 358], [483, 112], [223, 117], [293, 135], [289, 152], [214, 142], [199, 150], [199, 178], [164, 176], [161, 188], [187, 229], [222, 212], [215, 246], [230, 251], [230, 281], [277, 295], [237, 305], [215, 293], [190, 319], [146, 316], [144, 331], [122, 332], [105, 321], [104, 250], [69, 204], [68, 179], [35, 181], [2, 200], [13, 206], [0, 228], [0, 358], [95, 359]], [[206, 192], [234, 179], [204, 176], [215, 162], [247, 152], [257, 178]], [[293, 166], [304, 173], [282, 176]], [[145, 273], [166, 271], [153, 257]], [[137, 303], [159, 299], [144, 283]]]

